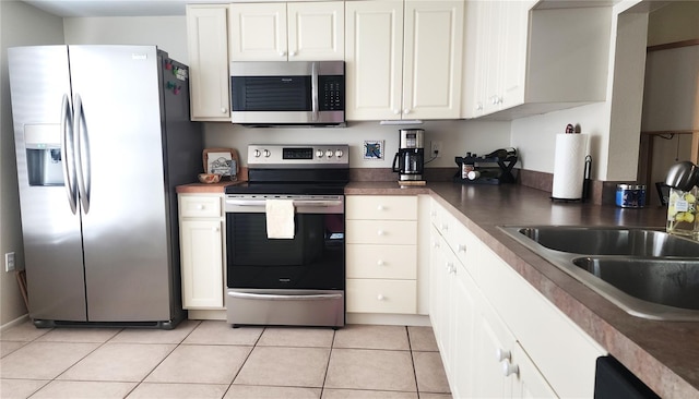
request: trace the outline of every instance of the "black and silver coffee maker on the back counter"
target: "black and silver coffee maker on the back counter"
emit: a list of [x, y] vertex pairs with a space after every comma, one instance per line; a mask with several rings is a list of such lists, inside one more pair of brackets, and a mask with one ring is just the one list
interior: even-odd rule
[[393, 171], [399, 173], [400, 181], [422, 181], [425, 145], [423, 129], [401, 129], [398, 153], [393, 158]]

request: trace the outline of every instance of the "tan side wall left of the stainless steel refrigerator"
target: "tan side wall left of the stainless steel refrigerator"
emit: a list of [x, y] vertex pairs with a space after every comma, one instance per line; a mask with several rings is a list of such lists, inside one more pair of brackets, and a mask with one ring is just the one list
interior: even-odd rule
[[24, 268], [7, 51], [14, 46], [62, 43], [63, 25], [60, 17], [24, 2], [0, 1], [0, 328], [26, 314], [14, 273], [4, 271], [7, 252], [14, 252], [17, 267]]

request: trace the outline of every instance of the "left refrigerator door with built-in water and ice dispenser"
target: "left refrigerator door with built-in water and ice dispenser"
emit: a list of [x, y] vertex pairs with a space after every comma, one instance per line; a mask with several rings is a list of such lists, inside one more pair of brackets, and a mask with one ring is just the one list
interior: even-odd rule
[[68, 48], [10, 48], [8, 68], [29, 316], [85, 321], [80, 211], [71, 210], [59, 165], [70, 153], [61, 140], [61, 102], [71, 98]]

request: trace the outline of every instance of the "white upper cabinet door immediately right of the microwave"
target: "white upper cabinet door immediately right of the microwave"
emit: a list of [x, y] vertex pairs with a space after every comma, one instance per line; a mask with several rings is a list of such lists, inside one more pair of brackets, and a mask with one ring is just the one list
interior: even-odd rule
[[347, 1], [346, 119], [401, 119], [403, 2]]

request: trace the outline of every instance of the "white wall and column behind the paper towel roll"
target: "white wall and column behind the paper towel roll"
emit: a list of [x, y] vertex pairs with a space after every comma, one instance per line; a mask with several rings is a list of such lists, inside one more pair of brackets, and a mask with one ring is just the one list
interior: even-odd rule
[[637, 179], [648, 13], [629, 12], [636, 3], [625, 1], [611, 10], [606, 101], [512, 121], [512, 146], [522, 154], [522, 168], [553, 172], [556, 134], [572, 123], [591, 135], [594, 180]]

